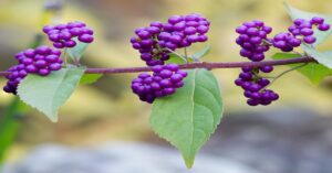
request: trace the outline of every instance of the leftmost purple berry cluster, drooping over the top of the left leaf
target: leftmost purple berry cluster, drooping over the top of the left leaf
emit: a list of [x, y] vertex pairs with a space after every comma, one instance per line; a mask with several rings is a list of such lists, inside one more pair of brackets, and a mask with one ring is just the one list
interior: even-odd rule
[[17, 94], [20, 82], [28, 74], [49, 75], [52, 71], [61, 69], [63, 61], [60, 58], [61, 51], [42, 45], [35, 50], [29, 48], [15, 55], [19, 64], [8, 69], [6, 93]]

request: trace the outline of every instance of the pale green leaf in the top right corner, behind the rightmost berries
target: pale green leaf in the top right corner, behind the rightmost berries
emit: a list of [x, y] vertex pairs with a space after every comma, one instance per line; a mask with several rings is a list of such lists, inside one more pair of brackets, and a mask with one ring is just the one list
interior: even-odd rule
[[[312, 17], [322, 17], [325, 19], [326, 23], [332, 24], [332, 14], [320, 14], [320, 13], [307, 12], [307, 11], [295, 9], [291, 6], [289, 6], [288, 3], [284, 3], [284, 7], [292, 20], [295, 20], [295, 19], [310, 20], [310, 19], [312, 19]], [[317, 42], [313, 45], [317, 46], [320, 43], [324, 42], [331, 34], [332, 34], [332, 30], [319, 31], [315, 29], [314, 36], [317, 37]]]

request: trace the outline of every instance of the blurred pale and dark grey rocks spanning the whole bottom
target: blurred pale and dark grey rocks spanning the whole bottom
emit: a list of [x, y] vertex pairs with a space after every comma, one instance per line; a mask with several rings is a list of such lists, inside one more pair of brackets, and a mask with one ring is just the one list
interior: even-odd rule
[[190, 171], [177, 151], [158, 145], [46, 144], [3, 173], [329, 173], [332, 119], [290, 109], [227, 116]]

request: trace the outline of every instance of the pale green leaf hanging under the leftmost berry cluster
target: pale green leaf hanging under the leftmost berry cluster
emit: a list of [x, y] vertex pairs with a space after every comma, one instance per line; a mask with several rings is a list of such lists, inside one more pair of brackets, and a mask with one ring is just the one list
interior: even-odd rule
[[58, 110], [80, 83], [85, 67], [62, 68], [46, 77], [27, 76], [18, 88], [21, 100], [58, 121]]

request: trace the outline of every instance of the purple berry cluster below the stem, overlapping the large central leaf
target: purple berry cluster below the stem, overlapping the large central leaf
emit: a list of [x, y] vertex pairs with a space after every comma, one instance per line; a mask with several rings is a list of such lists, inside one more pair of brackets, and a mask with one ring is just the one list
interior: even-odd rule
[[185, 85], [187, 72], [176, 64], [156, 65], [152, 69], [153, 75], [142, 73], [132, 82], [132, 89], [142, 101], [152, 104], [155, 98], [172, 95]]

